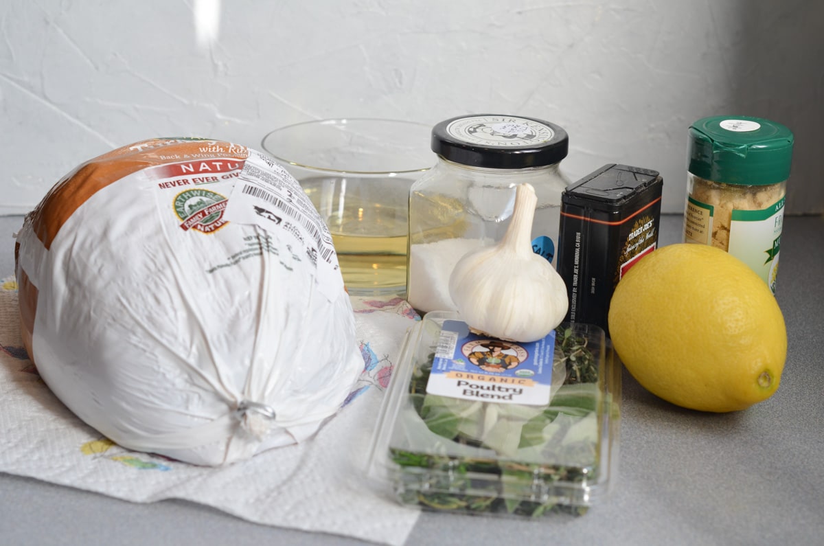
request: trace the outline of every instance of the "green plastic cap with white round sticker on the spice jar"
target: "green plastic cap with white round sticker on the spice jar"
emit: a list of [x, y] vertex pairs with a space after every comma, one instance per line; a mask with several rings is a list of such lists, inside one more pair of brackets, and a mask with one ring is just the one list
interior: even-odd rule
[[775, 121], [714, 115], [690, 126], [689, 170], [696, 177], [739, 186], [789, 178], [793, 132]]

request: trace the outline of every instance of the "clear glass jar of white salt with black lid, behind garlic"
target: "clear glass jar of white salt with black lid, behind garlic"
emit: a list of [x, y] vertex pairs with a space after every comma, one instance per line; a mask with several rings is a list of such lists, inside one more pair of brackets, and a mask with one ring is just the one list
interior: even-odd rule
[[452, 270], [466, 252], [503, 238], [515, 187], [525, 182], [538, 198], [533, 250], [554, 264], [561, 193], [570, 184], [559, 163], [568, 147], [558, 125], [519, 116], [461, 116], [435, 125], [438, 162], [410, 189], [407, 299], [415, 309], [456, 310]]

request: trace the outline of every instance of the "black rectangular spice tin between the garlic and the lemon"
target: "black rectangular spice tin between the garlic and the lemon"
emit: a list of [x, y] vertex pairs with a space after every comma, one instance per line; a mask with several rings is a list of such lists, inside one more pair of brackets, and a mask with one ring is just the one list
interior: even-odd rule
[[557, 270], [568, 322], [602, 327], [621, 276], [658, 245], [663, 181], [657, 171], [611, 163], [561, 195]]

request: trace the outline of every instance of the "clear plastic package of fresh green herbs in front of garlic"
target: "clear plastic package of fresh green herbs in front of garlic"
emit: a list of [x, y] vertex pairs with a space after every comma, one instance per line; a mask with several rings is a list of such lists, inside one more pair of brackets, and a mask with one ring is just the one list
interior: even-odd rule
[[[603, 330], [562, 324], [544, 340], [551, 371], [536, 374], [531, 365], [540, 363], [517, 357], [510, 379], [501, 379], [503, 373], [483, 379], [489, 372], [465, 350], [466, 359], [451, 362], [467, 371], [451, 373], [456, 382], [470, 378], [466, 398], [452, 398], [427, 388], [430, 375], [440, 373], [445, 334], [456, 321], [456, 313], [427, 313], [407, 334], [372, 437], [369, 476], [401, 504], [425, 510], [524, 518], [584, 514], [610, 491], [618, 463], [620, 367]], [[447, 351], [460, 355], [465, 341], [459, 338]], [[517, 346], [508, 352], [537, 359], [542, 350], [517, 345], [520, 352]], [[528, 390], [518, 384], [540, 383], [541, 374], [551, 376], [548, 402], [504, 400]]]

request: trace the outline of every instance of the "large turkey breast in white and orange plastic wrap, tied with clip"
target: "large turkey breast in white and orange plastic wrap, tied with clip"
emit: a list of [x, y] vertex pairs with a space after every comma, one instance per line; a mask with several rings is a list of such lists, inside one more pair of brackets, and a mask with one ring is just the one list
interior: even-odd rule
[[152, 139], [92, 159], [15, 251], [40, 376], [126, 448], [218, 465], [299, 442], [363, 369], [328, 229], [250, 148]]

